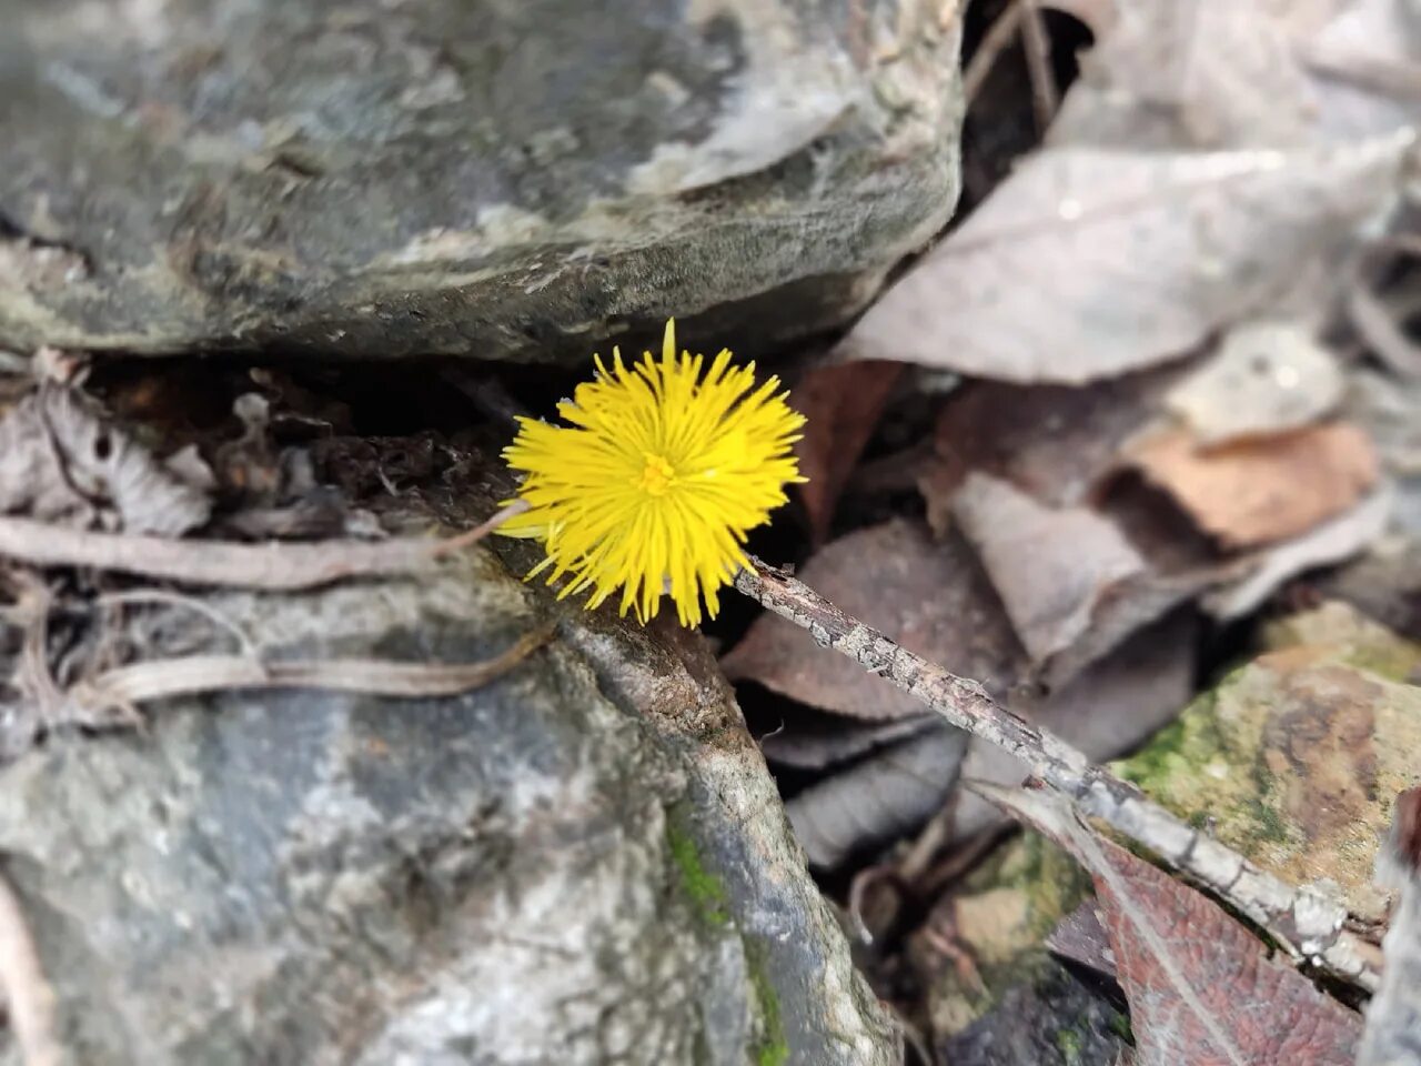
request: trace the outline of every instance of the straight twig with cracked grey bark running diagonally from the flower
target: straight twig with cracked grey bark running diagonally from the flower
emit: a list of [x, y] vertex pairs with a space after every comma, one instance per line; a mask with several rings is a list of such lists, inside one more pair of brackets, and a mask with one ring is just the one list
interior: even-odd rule
[[998, 705], [976, 681], [915, 655], [813, 588], [752, 557], [735, 586], [809, 631], [814, 641], [887, 678], [949, 723], [1002, 748], [1079, 812], [1155, 851], [1268, 930], [1295, 958], [1366, 989], [1378, 974], [1366, 947], [1344, 927], [1347, 911], [1314, 891], [1300, 891], [1157, 806], [1133, 785], [1096, 766], [1059, 736]]

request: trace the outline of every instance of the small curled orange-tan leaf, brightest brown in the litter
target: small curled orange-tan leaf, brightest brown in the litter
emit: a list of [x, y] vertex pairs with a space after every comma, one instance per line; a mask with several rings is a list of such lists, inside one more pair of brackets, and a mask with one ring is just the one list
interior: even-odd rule
[[1211, 449], [1171, 431], [1138, 442], [1128, 458], [1226, 547], [1306, 533], [1354, 506], [1377, 480], [1371, 441], [1346, 424]]

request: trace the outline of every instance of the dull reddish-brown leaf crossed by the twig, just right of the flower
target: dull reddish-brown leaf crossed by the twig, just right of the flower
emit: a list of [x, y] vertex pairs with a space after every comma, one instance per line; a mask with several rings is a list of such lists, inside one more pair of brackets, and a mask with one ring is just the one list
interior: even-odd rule
[[[1025, 652], [972, 549], [934, 543], [917, 523], [892, 520], [840, 537], [800, 577], [841, 610], [909, 651], [975, 678], [1002, 696], [1025, 671]], [[804, 630], [766, 613], [725, 658], [726, 675], [854, 718], [911, 718], [922, 704], [857, 662], [827, 654]]]

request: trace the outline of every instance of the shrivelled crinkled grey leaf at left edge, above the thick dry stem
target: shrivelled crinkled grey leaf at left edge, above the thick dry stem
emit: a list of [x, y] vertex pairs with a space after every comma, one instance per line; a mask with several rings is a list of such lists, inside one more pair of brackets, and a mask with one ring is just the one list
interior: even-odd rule
[[207, 520], [212, 489], [195, 452], [155, 459], [70, 388], [47, 385], [0, 421], [0, 513], [176, 537]]

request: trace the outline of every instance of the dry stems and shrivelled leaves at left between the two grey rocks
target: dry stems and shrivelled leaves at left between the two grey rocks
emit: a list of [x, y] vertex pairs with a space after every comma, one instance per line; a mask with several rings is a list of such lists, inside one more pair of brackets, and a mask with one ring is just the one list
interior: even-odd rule
[[[34, 381], [10, 391], [0, 414], [0, 557], [7, 563], [0, 570], [0, 760], [17, 758], [51, 729], [135, 726], [139, 706], [178, 694], [463, 692], [549, 640], [541, 628], [475, 664], [264, 661], [200, 591], [171, 584], [294, 591], [354, 576], [428, 571], [510, 509], [458, 537], [387, 539], [372, 516], [315, 482], [304, 449], [271, 445], [269, 405], [256, 394], [236, 398], [244, 429], [236, 441], [212, 445], [209, 463], [196, 443], [156, 456], [84, 389], [81, 361], [44, 351], [34, 371]], [[263, 543], [198, 536], [215, 532]], [[354, 532], [375, 539], [347, 539]], [[270, 539], [276, 534], [320, 540], [281, 543]], [[132, 584], [125, 574], [162, 584]], [[145, 617], [163, 613], [209, 623], [183, 627], [203, 634], [189, 654], [149, 655], [135, 635]]]

